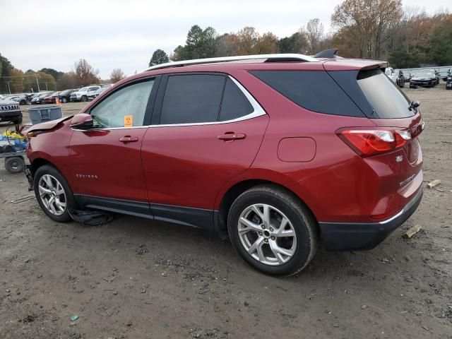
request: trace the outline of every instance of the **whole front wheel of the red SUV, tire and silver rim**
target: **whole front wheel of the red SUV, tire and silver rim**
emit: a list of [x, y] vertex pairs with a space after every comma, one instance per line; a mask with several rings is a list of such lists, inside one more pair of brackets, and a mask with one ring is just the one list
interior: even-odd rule
[[33, 184], [37, 202], [50, 219], [57, 222], [71, 220], [69, 208], [76, 207], [76, 203], [69, 184], [55, 167], [50, 165], [39, 167]]

